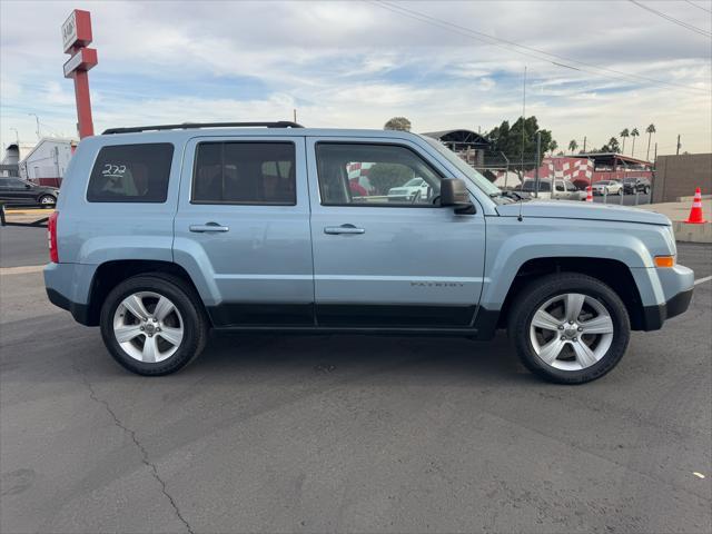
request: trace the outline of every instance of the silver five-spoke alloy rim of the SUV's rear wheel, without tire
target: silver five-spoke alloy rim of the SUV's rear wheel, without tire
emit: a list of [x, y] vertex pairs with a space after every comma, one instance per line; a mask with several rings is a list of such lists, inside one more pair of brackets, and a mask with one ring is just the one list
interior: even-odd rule
[[170, 358], [182, 343], [184, 320], [176, 305], [155, 291], [129, 295], [113, 314], [113, 336], [131, 358], [146, 364]]

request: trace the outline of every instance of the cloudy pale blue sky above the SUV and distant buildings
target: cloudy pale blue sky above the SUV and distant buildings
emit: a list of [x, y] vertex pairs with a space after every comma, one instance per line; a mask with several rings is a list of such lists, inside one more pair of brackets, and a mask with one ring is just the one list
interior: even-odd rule
[[[488, 130], [526, 113], [597, 147], [653, 122], [661, 154], [712, 150], [712, 2], [0, 2], [0, 140], [72, 135], [60, 26], [92, 14], [96, 130], [290, 119]], [[651, 8], [674, 21], [651, 12]], [[500, 40], [493, 40], [490, 37]], [[645, 135], [636, 156], [644, 156]], [[630, 154], [630, 139], [626, 152]]]

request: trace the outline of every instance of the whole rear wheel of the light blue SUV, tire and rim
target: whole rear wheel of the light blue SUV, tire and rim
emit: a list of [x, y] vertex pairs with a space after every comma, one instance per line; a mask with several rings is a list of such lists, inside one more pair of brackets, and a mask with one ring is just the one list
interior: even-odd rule
[[139, 375], [167, 375], [197, 357], [207, 319], [195, 291], [168, 275], [119, 284], [101, 308], [101, 336], [111, 356]]

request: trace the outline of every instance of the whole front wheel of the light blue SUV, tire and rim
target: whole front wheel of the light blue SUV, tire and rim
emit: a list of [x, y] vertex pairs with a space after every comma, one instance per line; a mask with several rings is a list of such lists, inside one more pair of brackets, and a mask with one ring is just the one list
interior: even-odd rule
[[562, 273], [527, 286], [512, 306], [510, 337], [524, 365], [560, 384], [583, 384], [620, 362], [630, 339], [621, 298], [596, 278]]

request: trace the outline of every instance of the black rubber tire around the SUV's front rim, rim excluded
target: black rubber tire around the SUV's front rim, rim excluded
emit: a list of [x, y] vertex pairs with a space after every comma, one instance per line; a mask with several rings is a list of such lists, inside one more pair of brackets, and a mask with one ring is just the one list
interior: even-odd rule
[[[566, 293], [591, 296], [601, 303], [613, 322], [611, 346], [599, 362], [578, 370], [562, 370], [544, 363], [534, 350], [530, 326], [534, 314], [546, 300]], [[558, 273], [537, 278], [526, 286], [512, 303], [508, 334], [522, 363], [532, 373], [557, 384], [584, 384], [602, 377], [625, 354], [631, 336], [631, 324], [625, 305], [607, 285], [591, 276], [577, 273]]]

